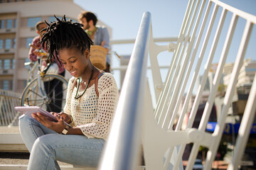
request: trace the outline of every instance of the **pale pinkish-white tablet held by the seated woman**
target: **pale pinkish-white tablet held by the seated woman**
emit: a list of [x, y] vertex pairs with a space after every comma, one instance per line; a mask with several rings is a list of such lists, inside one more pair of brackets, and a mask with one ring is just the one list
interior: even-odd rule
[[[31, 118], [32, 118], [32, 115], [31, 115], [32, 113], [41, 113], [42, 115], [46, 116], [48, 120], [53, 122], [58, 122], [57, 118], [55, 118], [54, 115], [50, 114], [48, 111], [45, 111], [43, 110], [43, 108], [40, 108], [38, 106], [16, 106], [15, 110], [19, 111], [22, 114], [28, 115]], [[68, 123], [65, 123], [65, 124], [69, 125]]]

